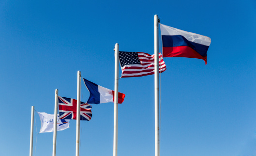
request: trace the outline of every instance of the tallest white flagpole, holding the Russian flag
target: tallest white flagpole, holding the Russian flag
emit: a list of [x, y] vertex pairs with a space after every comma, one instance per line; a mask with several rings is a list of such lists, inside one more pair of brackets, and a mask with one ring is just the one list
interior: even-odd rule
[[155, 50], [155, 156], [160, 156], [159, 138], [159, 56], [158, 56], [158, 15], [154, 16], [154, 50]]

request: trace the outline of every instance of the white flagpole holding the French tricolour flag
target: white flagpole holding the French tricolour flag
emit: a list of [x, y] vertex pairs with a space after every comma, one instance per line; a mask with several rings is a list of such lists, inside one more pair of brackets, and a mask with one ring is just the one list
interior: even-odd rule
[[75, 146], [75, 156], [79, 156], [79, 142], [80, 142], [80, 91], [81, 91], [81, 72], [77, 71], [76, 146]]

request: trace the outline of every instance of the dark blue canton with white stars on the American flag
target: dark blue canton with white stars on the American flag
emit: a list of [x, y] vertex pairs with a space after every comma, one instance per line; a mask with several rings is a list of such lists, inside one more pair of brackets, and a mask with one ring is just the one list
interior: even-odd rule
[[124, 65], [140, 65], [137, 52], [119, 52], [121, 66]]

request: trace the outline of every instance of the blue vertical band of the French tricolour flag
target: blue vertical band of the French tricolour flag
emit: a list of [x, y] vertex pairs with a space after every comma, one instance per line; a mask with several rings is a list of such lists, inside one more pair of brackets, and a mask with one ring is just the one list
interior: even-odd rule
[[99, 87], [97, 84], [88, 81], [87, 79], [84, 79], [84, 83], [87, 87], [87, 89], [90, 92], [90, 97], [87, 101], [87, 104], [100, 104], [101, 99], [100, 99], [100, 92], [99, 92]]

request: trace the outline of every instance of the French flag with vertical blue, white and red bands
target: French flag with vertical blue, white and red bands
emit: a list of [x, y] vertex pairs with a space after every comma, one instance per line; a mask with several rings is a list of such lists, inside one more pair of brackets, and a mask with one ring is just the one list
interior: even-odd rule
[[[87, 104], [101, 104], [101, 103], [114, 103], [115, 91], [109, 90], [105, 87], [97, 85], [89, 80], [83, 78], [85, 86], [90, 92], [90, 97]], [[118, 104], [121, 104], [124, 100], [125, 94], [118, 93]]]

